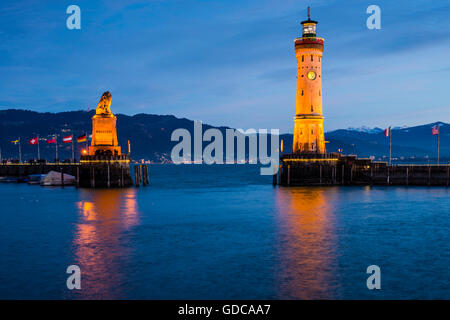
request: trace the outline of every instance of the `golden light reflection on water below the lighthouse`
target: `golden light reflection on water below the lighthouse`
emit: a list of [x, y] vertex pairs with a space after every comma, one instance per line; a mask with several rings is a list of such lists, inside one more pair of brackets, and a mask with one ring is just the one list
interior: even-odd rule
[[280, 234], [278, 295], [285, 299], [333, 298], [336, 266], [333, 189], [278, 188]]

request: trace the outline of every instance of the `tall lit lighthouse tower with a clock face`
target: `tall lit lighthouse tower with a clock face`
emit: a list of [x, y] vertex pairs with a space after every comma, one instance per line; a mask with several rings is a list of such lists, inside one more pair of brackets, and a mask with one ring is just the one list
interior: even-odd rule
[[297, 100], [294, 120], [294, 153], [325, 153], [322, 115], [322, 53], [324, 39], [316, 37], [317, 21], [302, 22], [303, 35], [295, 39]]

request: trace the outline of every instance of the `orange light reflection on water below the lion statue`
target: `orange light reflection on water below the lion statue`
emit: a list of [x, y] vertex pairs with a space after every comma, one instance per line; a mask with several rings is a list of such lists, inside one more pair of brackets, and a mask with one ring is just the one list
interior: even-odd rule
[[73, 247], [82, 273], [81, 298], [121, 298], [131, 246], [127, 230], [138, 223], [135, 189], [81, 190]]

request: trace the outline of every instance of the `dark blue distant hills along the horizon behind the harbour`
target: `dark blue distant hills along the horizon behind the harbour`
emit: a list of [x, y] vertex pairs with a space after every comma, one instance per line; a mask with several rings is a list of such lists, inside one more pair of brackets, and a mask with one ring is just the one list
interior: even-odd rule
[[[94, 111], [71, 111], [60, 113], [39, 113], [26, 110], [0, 110], [0, 147], [3, 158], [17, 158], [17, 146], [12, 140], [21, 137], [23, 159], [36, 158], [36, 146], [28, 144], [28, 139], [37, 134], [41, 138], [50, 138], [57, 133], [60, 136], [68, 135], [72, 131], [74, 136], [84, 132], [90, 133], [91, 117]], [[155, 162], [164, 162], [170, 159], [170, 152], [176, 142], [170, 141], [172, 131], [185, 128], [193, 131], [193, 121], [180, 119], [172, 115], [137, 114], [127, 116], [118, 114], [119, 144], [126, 151], [127, 140], [131, 141], [131, 152], [134, 159], [147, 159]], [[393, 157], [436, 157], [436, 136], [431, 135], [431, 127], [436, 123], [393, 129], [392, 155]], [[450, 157], [450, 125], [441, 123], [441, 157]], [[212, 128], [203, 125], [204, 130]], [[218, 128], [224, 131], [226, 127]], [[269, 128], [270, 129], [270, 128]], [[382, 130], [369, 129], [341, 129], [325, 134], [327, 150], [337, 151], [343, 149], [346, 154], [357, 153], [362, 157], [374, 156], [381, 159], [388, 155], [389, 139]], [[284, 152], [292, 151], [292, 135], [284, 134]], [[206, 142], [204, 143], [207, 144]], [[41, 141], [41, 154], [43, 158], [53, 159], [54, 145]], [[79, 154], [84, 144], [75, 144]], [[60, 159], [71, 157], [71, 145], [62, 144], [59, 139]]]

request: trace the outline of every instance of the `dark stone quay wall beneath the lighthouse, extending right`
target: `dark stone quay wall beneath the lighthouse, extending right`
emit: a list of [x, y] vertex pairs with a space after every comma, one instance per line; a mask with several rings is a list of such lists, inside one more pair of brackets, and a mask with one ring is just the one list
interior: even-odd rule
[[388, 165], [354, 155], [287, 154], [280, 158], [273, 184], [281, 186], [403, 185], [446, 186], [450, 165]]

